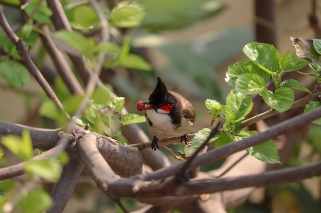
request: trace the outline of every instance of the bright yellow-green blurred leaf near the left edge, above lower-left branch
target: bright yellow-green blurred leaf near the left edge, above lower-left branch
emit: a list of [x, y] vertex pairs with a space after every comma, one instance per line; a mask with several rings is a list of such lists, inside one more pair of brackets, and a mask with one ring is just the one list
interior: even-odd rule
[[29, 160], [33, 157], [32, 143], [30, 133], [28, 130], [23, 131], [21, 138], [13, 135], [8, 135], [2, 137], [1, 142], [13, 154], [17, 155], [18, 157], [21, 157], [24, 160]]

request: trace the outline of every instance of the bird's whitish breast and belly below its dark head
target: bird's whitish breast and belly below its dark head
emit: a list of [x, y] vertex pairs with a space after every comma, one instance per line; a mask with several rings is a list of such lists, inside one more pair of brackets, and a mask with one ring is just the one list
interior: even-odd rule
[[181, 137], [187, 134], [193, 125], [192, 122], [183, 118], [182, 124], [176, 127], [172, 124], [172, 119], [168, 114], [157, 113], [155, 110], [146, 110], [146, 116], [153, 124], [148, 125], [149, 131], [159, 140]]

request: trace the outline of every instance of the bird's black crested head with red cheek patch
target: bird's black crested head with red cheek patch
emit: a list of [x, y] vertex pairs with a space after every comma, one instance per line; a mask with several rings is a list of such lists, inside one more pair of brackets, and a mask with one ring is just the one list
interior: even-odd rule
[[150, 94], [148, 100], [143, 102], [145, 110], [154, 109], [158, 112], [161, 109], [163, 113], [170, 113], [173, 109], [173, 102], [169, 96], [164, 82], [158, 77], [155, 90]]

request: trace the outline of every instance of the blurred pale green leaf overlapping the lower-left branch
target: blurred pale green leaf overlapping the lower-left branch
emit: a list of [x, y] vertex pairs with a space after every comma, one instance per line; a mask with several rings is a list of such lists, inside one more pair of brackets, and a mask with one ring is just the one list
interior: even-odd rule
[[25, 171], [29, 176], [37, 175], [53, 182], [59, 179], [61, 170], [62, 165], [53, 158], [25, 162]]

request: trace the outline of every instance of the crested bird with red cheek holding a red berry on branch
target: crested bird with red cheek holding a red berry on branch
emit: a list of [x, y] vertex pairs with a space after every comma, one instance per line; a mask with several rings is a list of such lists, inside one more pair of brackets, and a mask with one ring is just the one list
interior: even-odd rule
[[193, 105], [182, 95], [168, 91], [165, 83], [157, 78], [155, 90], [147, 101], [138, 101], [137, 110], [145, 110], [149, 131], [154, 135], [152, 150], [159, 149], [158, 140], [180, 137], [187, 144], [191, 127], [195, 120]]

